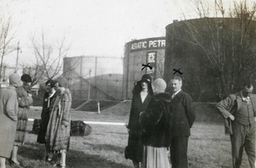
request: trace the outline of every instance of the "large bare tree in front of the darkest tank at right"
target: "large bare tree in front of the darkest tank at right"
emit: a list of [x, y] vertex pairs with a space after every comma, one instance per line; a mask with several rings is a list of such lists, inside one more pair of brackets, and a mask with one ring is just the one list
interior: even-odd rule
[[241, 81], [253, 76], [256, 3], [247, 5], [246, 0], [233, 2], [234, 8], [231, 9], [224, 8], [222, 0], [215, 0], [212, 11], [206, 1], [194, 2], [200, 19], [186, 20], [183, 14], [185, 20], [174, 23], [182, 32], [172, 36], [201, 50], [207, 66], [217, 72], [218, 94], [224, 97], [241, 86]]

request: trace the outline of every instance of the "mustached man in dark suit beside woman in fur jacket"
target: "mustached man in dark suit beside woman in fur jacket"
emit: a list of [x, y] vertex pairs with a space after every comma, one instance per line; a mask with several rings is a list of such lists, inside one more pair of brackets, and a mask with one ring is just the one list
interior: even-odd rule
[[192, 98], [183, 92], [182, 79], [175, 76], [171, 79], [172, 101], [172, 143], [171, 162], [172, 168], [188, 167], [188, 143], [190, 128], [194, 123], [195, 114], [192, 111]]

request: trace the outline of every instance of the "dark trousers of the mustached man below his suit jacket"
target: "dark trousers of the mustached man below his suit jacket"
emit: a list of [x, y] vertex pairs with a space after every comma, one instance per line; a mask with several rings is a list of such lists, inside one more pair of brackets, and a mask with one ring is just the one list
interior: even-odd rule
[[189, 136], [172, 137], [171, 162], [172, 168], [188, 167], [188, 143]]

